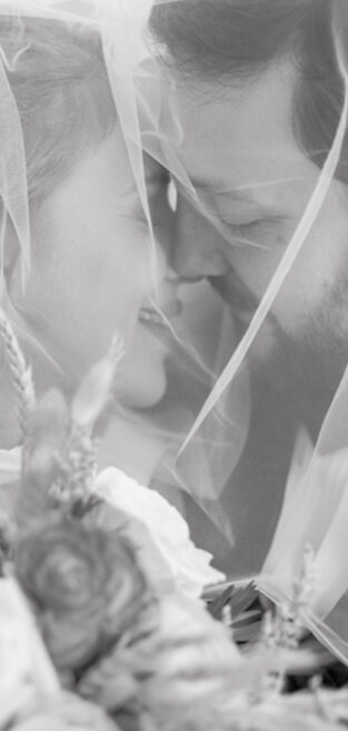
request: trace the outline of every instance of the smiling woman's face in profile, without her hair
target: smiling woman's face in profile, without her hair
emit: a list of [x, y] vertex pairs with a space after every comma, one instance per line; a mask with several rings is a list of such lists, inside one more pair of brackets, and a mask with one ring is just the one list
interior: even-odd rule
[[29, 281], [21, 294], [18, 272], [11, 292], [36, 338], [72, 381], [119, 333], [127, 353], [119, 398], [129, 407], [156, 403], [166, 388], [160, 326], [142, 317], [156, 286], [163, 310], [176, 309], [175, 287], [165, 281], [170, 209], [161, 171], [152, 160], [146, 160], [146, 177], [153, 228], [161, 240], [156, 252], [116, 129], [88, 150], [32, 216]]

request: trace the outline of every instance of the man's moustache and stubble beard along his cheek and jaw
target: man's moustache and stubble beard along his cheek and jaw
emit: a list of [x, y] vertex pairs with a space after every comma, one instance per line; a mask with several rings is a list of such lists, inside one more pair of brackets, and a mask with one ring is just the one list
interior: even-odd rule
[[[247, 331], [238, 311], [257, 310], [260, 300], [251, 292], [235, 268], [221, 278], [209, 278], [228, 306], [237, 343]], [[298, 316], [298, 304], [288, 296], [287, 323], [281, 322], [281, 292], [246, 356], [251, 377], [265, 388], [265, 399], [282, 400], [285, 411], [302, 423], [314, 439], [318, 435], [348, 362], [348, 257], [340, 260], [329, 287], [318, 297], [314, 287], [311, 307]], [[295, 290], [296, 291], [296, 290]], [[297, 319], [291, 322], [291, 309]], [[249, 318], [248, 318], [249, 319]]]

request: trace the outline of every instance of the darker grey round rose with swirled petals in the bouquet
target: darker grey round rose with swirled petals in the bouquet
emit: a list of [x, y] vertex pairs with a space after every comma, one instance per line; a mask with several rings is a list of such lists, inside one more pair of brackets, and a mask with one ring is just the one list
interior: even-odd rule
[[125, 539], [60, 515], [21, 537], [14, 570], [63, 672], [106, 651], [135, 621], [147, 589]]

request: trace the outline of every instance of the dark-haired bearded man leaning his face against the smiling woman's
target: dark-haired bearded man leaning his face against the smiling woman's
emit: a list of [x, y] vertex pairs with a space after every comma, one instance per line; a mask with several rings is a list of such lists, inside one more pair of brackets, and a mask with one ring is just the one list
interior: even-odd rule
[[[339, 122], [337, 2], [180, 0], [152, 11], [165, 73], [176, 80], [178, 154], [201, 201], [197, 207], [178, 192], [173, 264], [187, 279], [211, 282], [240, 337], [302, 217]], [[236, 538], [232, 554], [221, 548], [226, 569], [231, 561], [241, 572], [260, 567], [298, 428], [316, 440], [347, 364], [347, 184], [346, 146], [251, 349], [251, 428], [223, 495]], [[248, 549], [238, 552], [246, 531]]]

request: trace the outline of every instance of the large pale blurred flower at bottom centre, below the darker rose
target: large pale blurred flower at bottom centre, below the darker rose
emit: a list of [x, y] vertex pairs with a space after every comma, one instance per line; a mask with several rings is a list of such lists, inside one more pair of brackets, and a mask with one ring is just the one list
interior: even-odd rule
[[226, 628], [197, 601], [168, 593], [87, 670], [78, 692], [120, 725], [128, 713], [140, 729], [231, 731], [230, 712], [240, 695], [239, 688], [233, 695], [233, 685], [242, 671]]

